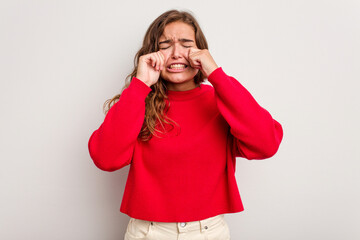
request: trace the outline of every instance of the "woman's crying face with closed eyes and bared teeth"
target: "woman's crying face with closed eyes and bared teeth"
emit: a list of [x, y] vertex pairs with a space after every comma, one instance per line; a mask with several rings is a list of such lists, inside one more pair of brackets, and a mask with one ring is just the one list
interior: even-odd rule
[[165, 26], [159, 39], [159, 50], [165, 57], [161, 77], [168, 84], [194, 84], [193, 79], [199, 69], [189, 64], [190, 47], [197, 48], [192, 26], [183, 22], [172, 22]]

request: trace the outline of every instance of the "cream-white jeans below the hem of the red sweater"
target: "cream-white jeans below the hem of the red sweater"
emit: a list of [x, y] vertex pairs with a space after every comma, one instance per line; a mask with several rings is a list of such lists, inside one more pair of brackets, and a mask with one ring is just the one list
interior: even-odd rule
[[125, 240], [230, 240], [224, 214], [193, 222], [152, 222], [130, 218]]

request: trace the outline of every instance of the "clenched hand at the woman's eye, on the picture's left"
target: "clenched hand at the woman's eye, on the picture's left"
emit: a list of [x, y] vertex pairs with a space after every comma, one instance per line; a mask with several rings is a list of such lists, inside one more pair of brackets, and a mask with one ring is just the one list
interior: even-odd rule
[[150, 87], [159, 80], [163, 68], [164, 55], [160, 51], [142, 55], [139, 58], [136, 78]]

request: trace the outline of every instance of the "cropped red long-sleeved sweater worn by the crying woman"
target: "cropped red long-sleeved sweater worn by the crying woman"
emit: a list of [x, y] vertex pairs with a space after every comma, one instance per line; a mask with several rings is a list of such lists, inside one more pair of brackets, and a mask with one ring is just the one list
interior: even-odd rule
[[121, 212], [149, 221], [188, 222], [244, 210], [235, 157], [273, 156], [283, 130], [221, 67], [208, 81], [212, 86], [168, 91], [167, 114], [180, 127], [142, 142], [137, 136], [151, 88], [134, 77], [91, 135], [89, 152], [98, 168], [111, 172], [130, 164]]

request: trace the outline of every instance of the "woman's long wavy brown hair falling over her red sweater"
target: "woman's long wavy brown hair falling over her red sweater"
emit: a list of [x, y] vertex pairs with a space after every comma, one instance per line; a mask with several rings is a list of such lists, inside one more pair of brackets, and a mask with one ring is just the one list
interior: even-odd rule
[[[169, 23], [177, 21], [181, 21], [193, 27], [195, 31], [195, 40], [197, 47], [199, 49], [208, 49], [206, 38], [195, 17], [191, 13], [178, 10], [169, 10], [167, 12], [164, 12], [159, 17], [157, 17], [147, 29], [142, 47], [136, 53], [134, 58], [134, 69], [132, 73], [125, 78], [125, 85], [122, 88], [121, 93], [130, 85], [133, 77], [136, 76], [140, 56], [159, 51], [159, 38], [164, 32], [165, 26]], [[200, 83], [204, 82], [205, 78], [206, 77], [202, 74], [202, 72], [199, 71], [194, 77], [196, 86], [199, 86]], [[166, 132], [164, 124], [169, 124], [171, 126], [171, 130], [174, 128], [174, 124], [178, 125], [175, 121], [166, 116], [166, 112], [170, 107], [170, 102], [165, 101], [165, 99], [167, 99], [167, 88], [165, 80], [162, 79], [160, 76], [159, 80], [155, 84], [150, 86], [150, 88], [152, 89], [152, 91], [147, 95], [145, 99], [145, 117], [143, 125], [141, 127], [141, 131], [138, 135], [138, 138], [142, 141], [150, 140], [152, 135], [160, 137], [156, 133]], [[105, 101], [105, 115], [110, 110], [110, 108], [119, 100], [121, 93], [115, 95], [112, 99], [108, 99]], [[157, 128], [158, 125], [161, 125], [164, 131], [160, 131]]]

